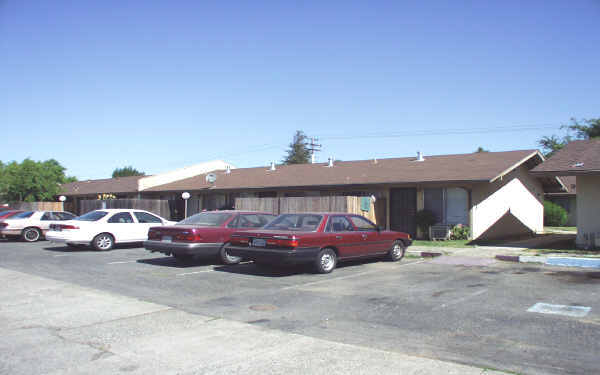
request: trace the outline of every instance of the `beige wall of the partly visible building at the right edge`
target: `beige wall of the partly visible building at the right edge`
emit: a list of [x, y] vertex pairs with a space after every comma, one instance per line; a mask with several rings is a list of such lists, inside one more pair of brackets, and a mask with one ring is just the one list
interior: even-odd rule
[[600, 176], [577, 176], [576, 243], [600, 247]]

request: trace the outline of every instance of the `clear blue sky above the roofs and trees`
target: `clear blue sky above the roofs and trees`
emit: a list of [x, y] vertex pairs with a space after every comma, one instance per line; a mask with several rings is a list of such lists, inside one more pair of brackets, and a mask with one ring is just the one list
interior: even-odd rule
[[599, 19], [598, 0], [0, 0], [0, 160], [249, 167], [297, 129], [320, 161], [537, 148], [600, 117]]

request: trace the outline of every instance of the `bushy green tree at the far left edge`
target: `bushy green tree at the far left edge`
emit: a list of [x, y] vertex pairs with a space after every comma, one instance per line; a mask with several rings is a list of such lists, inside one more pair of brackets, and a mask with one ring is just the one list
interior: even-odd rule
[[54, 201], [61, 184], [73, 181], [65, 176], [65, 168], [54, 159], [25, 159], [4, 164], [0, 162], [0, 200], [6, 202]]

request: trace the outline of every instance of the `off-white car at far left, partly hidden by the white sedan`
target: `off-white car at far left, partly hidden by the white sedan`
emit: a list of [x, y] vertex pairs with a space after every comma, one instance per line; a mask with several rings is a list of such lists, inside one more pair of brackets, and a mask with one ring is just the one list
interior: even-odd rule
[[75, 217], [64, 211], [25, 211], [0, 223], [0, 235], [4, 237], [20, 237], [27, 242], [41, 239], [50, 225], [71, 220]]

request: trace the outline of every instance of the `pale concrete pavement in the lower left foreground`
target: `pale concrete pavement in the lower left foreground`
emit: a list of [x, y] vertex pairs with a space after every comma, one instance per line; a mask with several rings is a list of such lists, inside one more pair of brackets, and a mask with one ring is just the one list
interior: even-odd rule
[[2, 268], [0, 373], [502, 374], [189, 314]]

